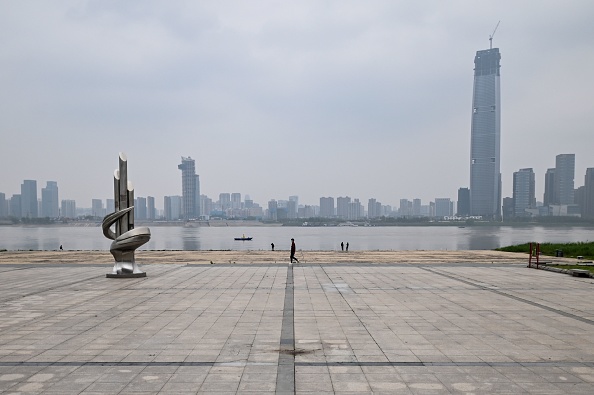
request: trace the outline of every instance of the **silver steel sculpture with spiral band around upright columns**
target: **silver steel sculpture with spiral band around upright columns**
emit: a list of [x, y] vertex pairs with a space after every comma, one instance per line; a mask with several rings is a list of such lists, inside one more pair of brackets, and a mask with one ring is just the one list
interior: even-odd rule
[[[115, 212], [103, 218], [103, 234], [113, 240], [109, 252], [116, 263], [107, 277], [146, 277], [134, 260], [134, 251], [151, 238], [148, 227], [134, 228], [134, 189], [128, 182], [128, 162], [120, 152], [120, 167], [113, 174]], [[115, 225], [115, 232], [111, 226]]]

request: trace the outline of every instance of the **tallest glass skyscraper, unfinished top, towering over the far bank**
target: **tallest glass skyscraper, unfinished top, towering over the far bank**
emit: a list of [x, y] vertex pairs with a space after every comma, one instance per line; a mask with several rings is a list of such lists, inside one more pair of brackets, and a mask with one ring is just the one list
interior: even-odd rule
[[474, 58], [470, 136], [470, 213], [485, 219], [501, 215], [499, 48]]

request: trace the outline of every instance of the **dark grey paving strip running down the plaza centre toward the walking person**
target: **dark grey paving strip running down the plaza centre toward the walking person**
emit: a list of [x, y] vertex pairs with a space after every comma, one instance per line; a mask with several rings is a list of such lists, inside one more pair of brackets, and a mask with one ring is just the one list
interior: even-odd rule
[[279, 345], [276, 393], [295, 393], [295, 291], [293, 264], [287, 266], [285, 304]]

